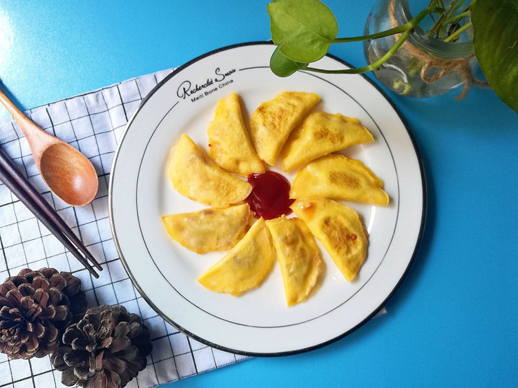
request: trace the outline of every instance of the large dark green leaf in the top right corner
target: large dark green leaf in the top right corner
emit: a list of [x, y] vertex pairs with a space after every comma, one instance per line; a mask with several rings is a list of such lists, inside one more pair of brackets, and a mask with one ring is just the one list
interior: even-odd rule
[[473, 48], [489, 85], [518, 112], [518, 0], [477, 0]]

